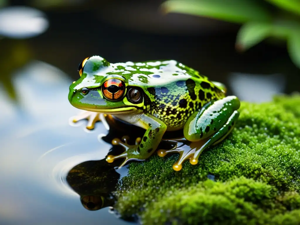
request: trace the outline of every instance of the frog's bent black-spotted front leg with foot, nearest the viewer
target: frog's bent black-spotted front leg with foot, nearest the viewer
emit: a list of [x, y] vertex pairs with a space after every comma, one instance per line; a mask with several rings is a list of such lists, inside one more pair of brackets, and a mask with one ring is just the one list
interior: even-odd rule
[[108, 155], [106, 158], [108, 163], [112, 163], [119, 158], [125, 158], [125, 161], [120, 166], [122, 167], [131, 160], [143, 161], [149, 158], [149, 156], [157, 149], [167, 130], [167, 125], [165, 125], [164, 122], [154, 116], [146, 114], [141, 114], [135, 125], [139, 125], [146, 129], [143, 138], [137, 138], [135, 145], [128, 145], [126, 138], [124, 142], [119, 139], [114, 139], [112, 141], [113, 145], [123, 146], [125, 152], [117, 156]]

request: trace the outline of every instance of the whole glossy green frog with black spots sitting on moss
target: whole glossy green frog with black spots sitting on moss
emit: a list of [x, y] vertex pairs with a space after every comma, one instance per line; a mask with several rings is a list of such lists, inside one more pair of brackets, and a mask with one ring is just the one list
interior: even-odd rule
[[125, 158], [121, 166], [147, 159], [165, 131], [179, 129], [185, 139], [199, 142], [201, 147], [181, 154], [174, 170], [180, 170], [187, 159], [197, 164], [200, 153], [222, 141], [239, 116], [240, 102], [235, 96], [225, 96], [224, 85], [175, 60], [112, 64], [92, 56], [79, 65], [79, 74], [70, 85], [68, 98], [74, 107], [91, 113], [78, 119], [90, 117], [92, 128], [99, 113], [110, 114], [146, 130], [135, 145], [113, 140], [124, 146], [125, 152], [107, 156], [107, 162]]

